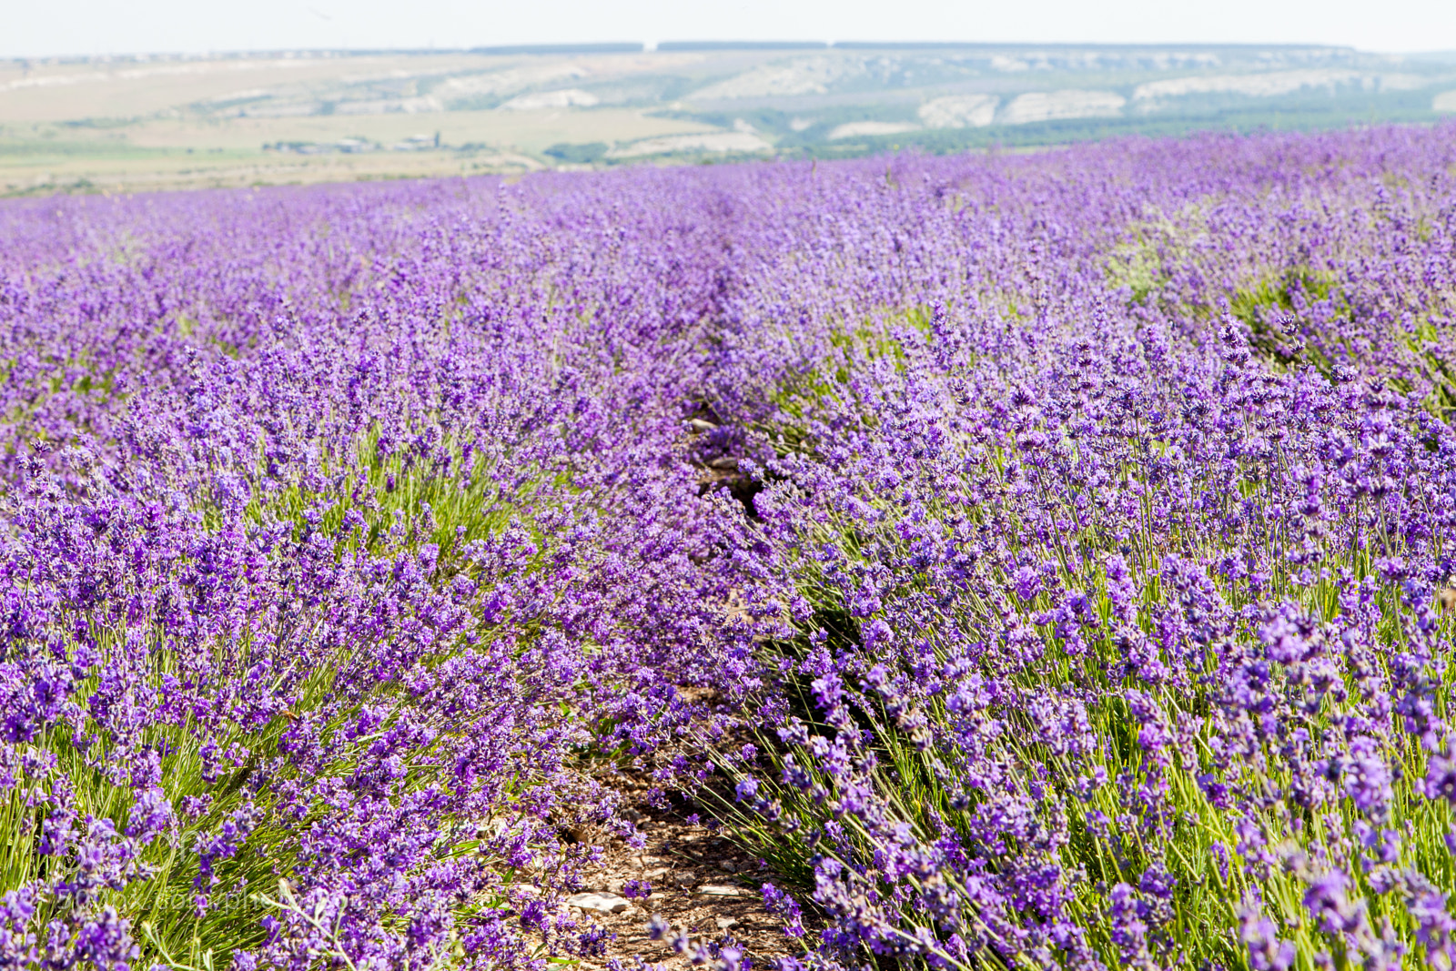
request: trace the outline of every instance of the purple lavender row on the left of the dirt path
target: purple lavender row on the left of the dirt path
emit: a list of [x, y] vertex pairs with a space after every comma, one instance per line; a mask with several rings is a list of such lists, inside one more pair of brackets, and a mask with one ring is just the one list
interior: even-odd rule
[[690, 186], [543, 189], [6, 213], [6, 967], [593, 946], [579, 753], [735, 664], [673, 456], [721, 259]]

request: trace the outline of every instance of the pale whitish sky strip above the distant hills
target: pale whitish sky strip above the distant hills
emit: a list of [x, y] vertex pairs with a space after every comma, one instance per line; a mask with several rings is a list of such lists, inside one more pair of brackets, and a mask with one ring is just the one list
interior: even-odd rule
[[1456, 0], [0, 0], [0, 57], [594, 41], [1456, 49]]

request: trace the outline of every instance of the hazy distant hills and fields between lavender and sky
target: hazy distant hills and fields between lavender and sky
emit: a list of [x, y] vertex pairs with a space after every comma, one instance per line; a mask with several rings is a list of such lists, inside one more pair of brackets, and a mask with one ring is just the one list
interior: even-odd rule
[[711, 45], [0, 61], [0, 194], [1427, 122], [1456, 55]]

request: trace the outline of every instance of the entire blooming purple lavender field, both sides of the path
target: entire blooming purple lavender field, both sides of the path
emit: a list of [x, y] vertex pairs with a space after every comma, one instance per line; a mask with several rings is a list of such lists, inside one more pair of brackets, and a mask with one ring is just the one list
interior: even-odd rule
[[0, 242], [0, 968], [1456, 962], [1453, 125]]

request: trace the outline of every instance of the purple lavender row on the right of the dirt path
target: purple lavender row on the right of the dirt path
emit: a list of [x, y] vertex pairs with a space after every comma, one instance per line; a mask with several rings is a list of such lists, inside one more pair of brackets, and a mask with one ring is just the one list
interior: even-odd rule
[[734, 303], [782, 690], [728, 808], [820, 958], [1452, 967], [1453, 162], [932, 167]]

